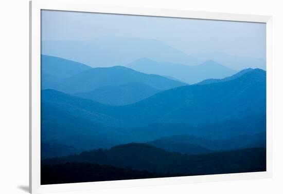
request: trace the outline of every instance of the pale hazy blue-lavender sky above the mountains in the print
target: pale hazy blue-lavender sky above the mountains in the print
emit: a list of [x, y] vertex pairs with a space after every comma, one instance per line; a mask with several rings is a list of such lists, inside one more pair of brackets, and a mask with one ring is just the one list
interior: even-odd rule
[[94, 40], [102, 36], [152, 38], [187, 54], [224, 52], [265, 58], [266, 25], [134, 16], [42, 11], [42, 40]]

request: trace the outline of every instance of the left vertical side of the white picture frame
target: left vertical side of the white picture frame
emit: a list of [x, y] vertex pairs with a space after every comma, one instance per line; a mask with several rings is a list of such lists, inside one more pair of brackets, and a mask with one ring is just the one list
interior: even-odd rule
[[29, 2], [29, 192], [40, 192], [41, 1]]

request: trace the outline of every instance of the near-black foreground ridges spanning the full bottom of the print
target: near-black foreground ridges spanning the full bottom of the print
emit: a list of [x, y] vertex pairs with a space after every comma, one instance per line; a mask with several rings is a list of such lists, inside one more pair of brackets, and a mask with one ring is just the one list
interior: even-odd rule
[[166, 151], [147, 144], [42, 161], [42, 184], [266, 171], [266, 148], [245, 148], [198, 155]]

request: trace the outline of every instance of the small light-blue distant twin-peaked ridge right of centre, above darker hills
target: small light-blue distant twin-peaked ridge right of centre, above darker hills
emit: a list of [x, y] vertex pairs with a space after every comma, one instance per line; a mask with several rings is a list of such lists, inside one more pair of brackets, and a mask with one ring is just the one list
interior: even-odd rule
[[142, 58], [131, 62], [127, 67], [139, 72], [174, 77], [188, 84], [198, 83], [206, 79], [219, 79], [236, 73], [214, 61], [206, 61], [200, 65], [182, 65], [166, 62], [156, 62]]

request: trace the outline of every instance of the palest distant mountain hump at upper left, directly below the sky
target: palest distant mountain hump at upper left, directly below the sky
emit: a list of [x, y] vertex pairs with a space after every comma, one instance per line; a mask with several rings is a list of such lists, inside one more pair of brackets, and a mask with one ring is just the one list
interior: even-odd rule
[[147, 38], [101, 37], [93, 41], [42, 41], [41, 52], [91, 67], [129, 64], [140, 57], [159, 62], [198, 65], [200, 60], [163, 42]]

